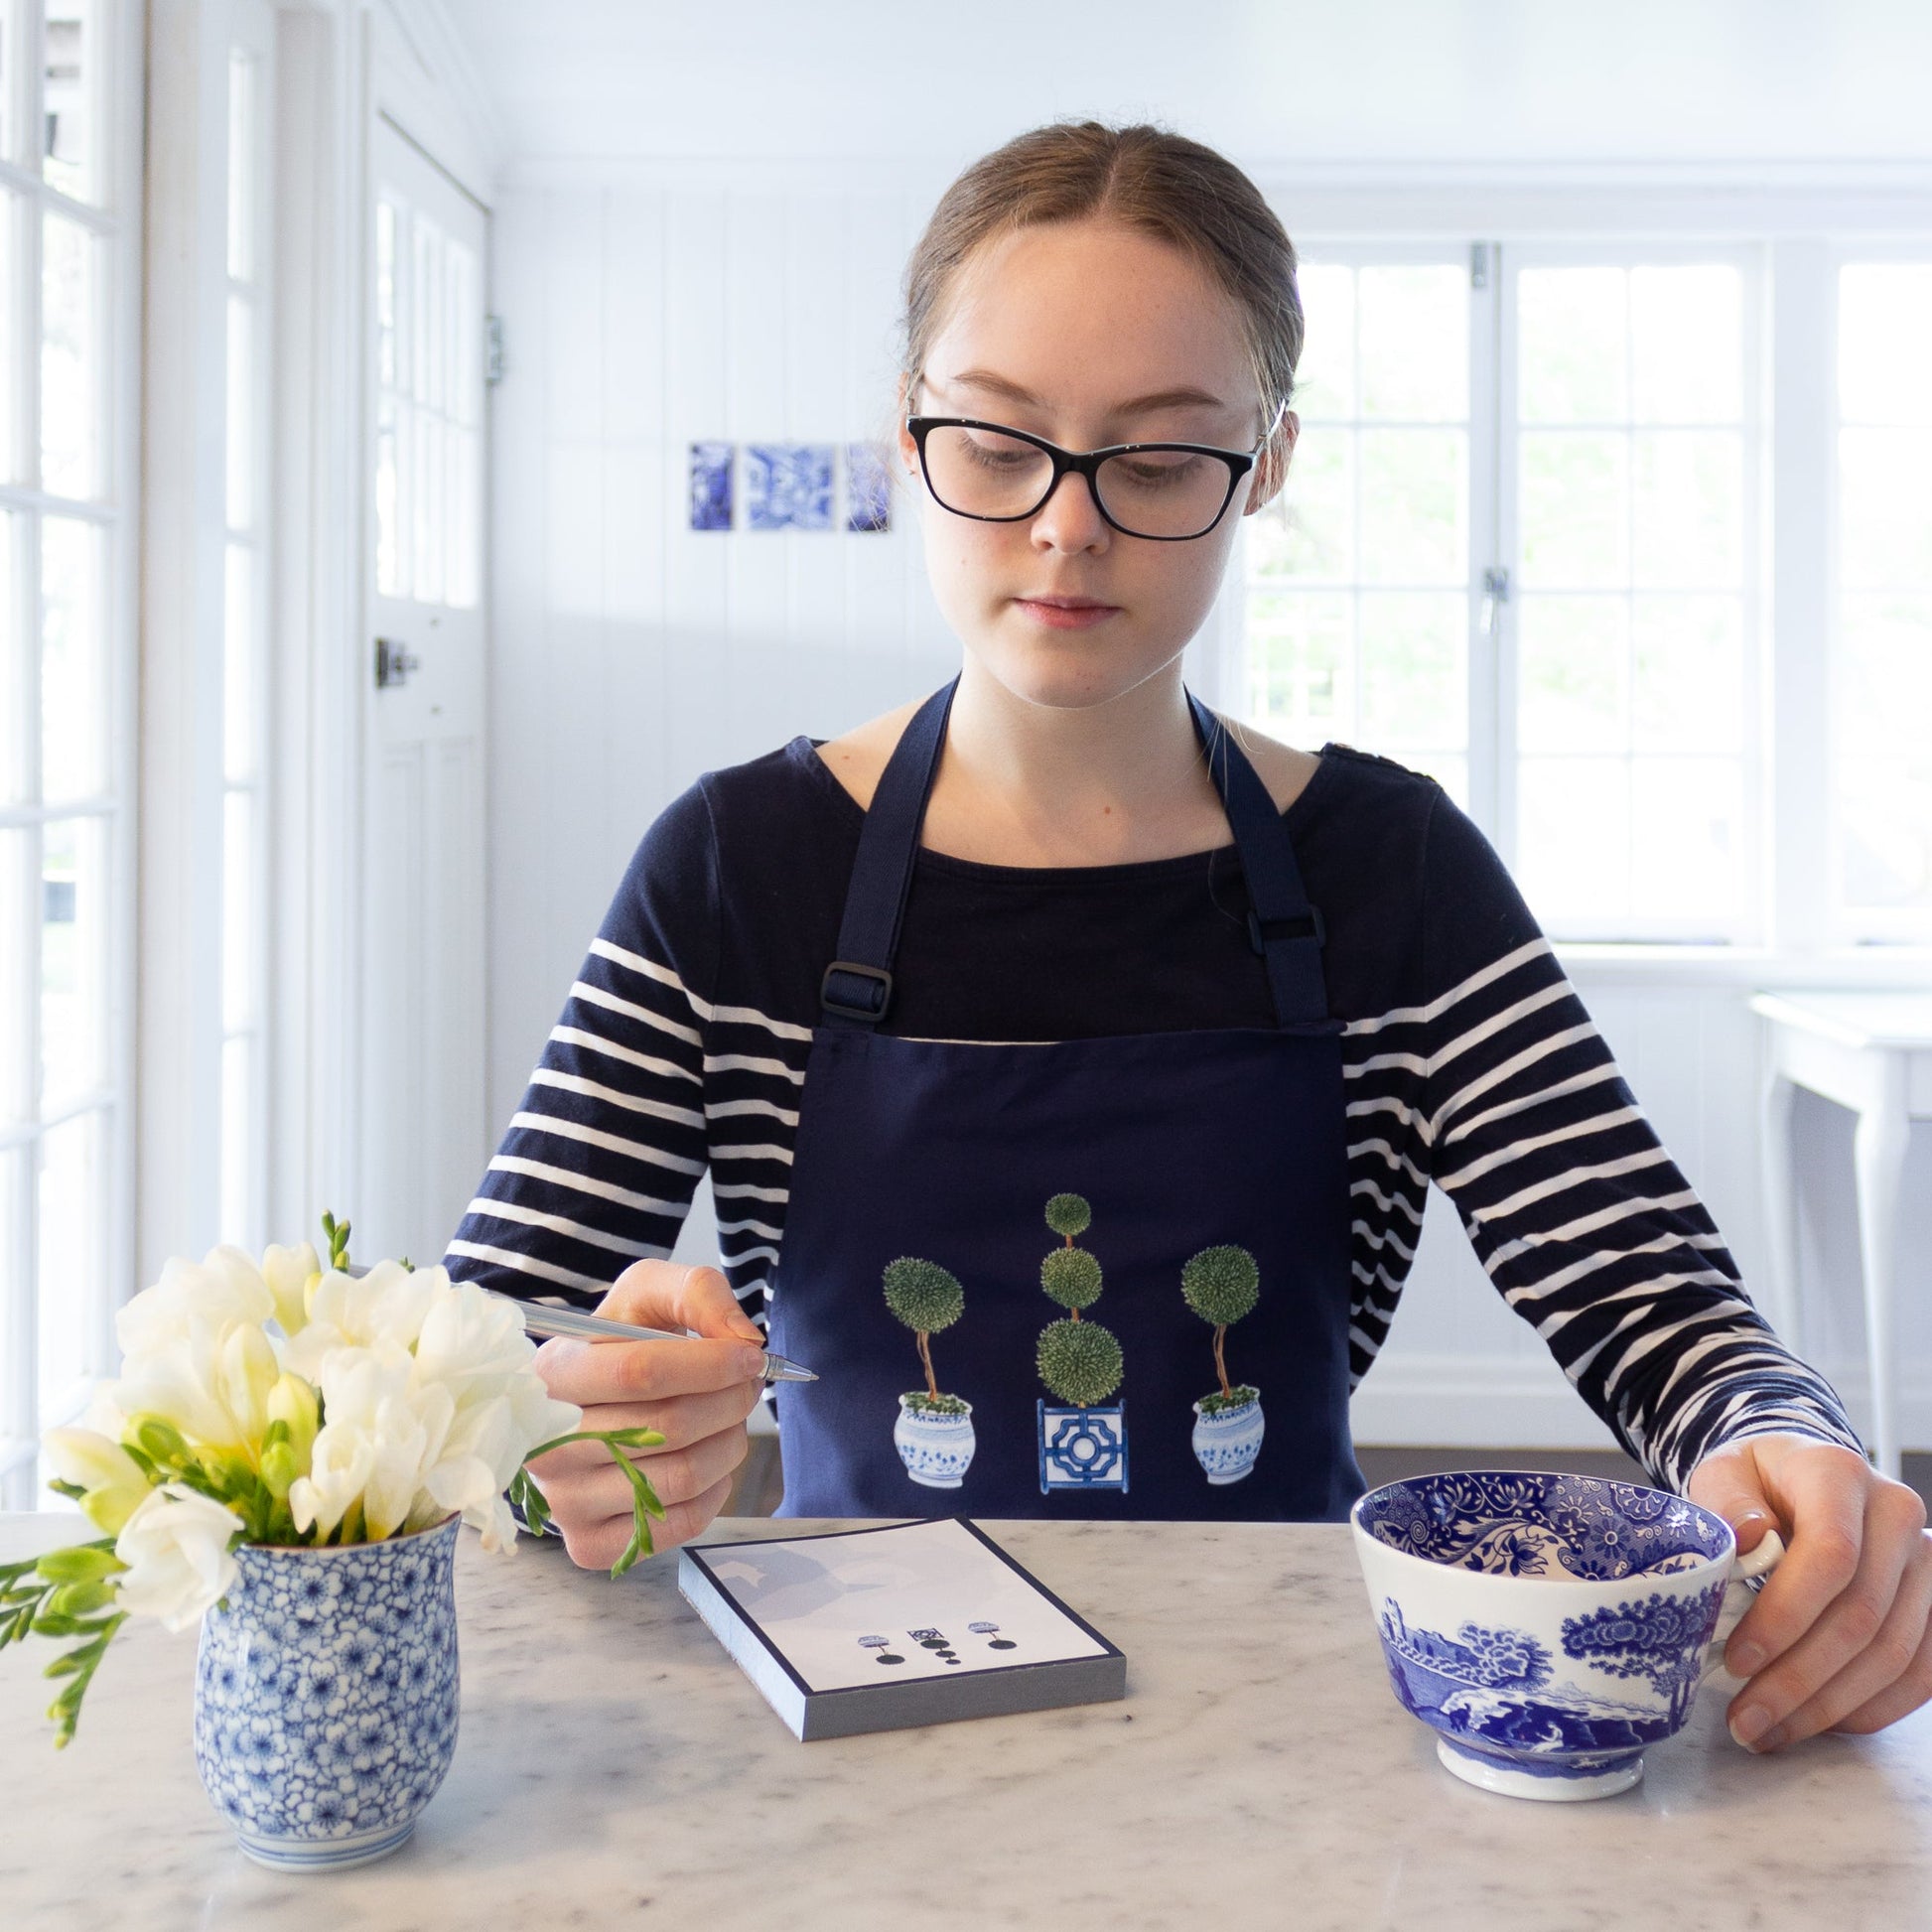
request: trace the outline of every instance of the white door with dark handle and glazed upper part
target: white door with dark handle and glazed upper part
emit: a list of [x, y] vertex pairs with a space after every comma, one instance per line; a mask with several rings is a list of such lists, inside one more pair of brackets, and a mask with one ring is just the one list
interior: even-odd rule
[[361, 1260], [429, 1264], [489, 1157], [483, 1101], [487, 211], [377, 120], [363, 632]]

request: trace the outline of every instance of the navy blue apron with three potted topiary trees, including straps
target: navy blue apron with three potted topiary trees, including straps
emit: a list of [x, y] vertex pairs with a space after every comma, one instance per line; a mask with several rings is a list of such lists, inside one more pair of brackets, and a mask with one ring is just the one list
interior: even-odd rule
[[956, 686], [879, 779], [821, 985], [771, 1304], [771, 1347], [819, 1379], [777, 1385], [777, 1513], [1339, 1522], [1366, 1490], [1343, 1028], [1281, 813], [1190, 692], [1273, 1028], [881, 1032]]

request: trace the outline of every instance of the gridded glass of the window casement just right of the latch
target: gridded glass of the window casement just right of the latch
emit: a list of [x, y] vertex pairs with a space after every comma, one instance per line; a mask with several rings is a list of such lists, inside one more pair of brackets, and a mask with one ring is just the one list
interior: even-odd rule
[[1743, 272], [1530, 267], [1517, 298], [1517, 875], [1557, 937], [1741, 937]]

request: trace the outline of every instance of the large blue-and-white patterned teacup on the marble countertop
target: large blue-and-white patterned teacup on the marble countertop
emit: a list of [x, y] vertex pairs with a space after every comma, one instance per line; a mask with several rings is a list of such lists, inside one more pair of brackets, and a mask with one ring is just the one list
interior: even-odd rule
[[1397, 1698], [1457, 1777], [1522, 1799], [1600, 1799], [1644, 1776], [1750, 1607], [1723, 1517], [1604, 1476], [1457, 1470], [1349, 1513]]

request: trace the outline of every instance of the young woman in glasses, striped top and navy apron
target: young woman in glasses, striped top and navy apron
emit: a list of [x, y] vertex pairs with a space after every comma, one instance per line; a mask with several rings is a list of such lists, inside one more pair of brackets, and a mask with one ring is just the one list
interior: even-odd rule
[[[1182, 684], [1300, 346], [1289, 238], [1192, 141], [1041, 128], [947, 191], [896, 442], [958, 676], [651, 825], [448, 1265], [709, 1337], [539, 1356], [585, 1426], [665, 1432], [659, 1548], [726, 1495], [767, 1329], [819, 1378], [775, 1391], [782, 1515], [1337, 1520], [1434, 1180], [1656, 1482], [1785, 1532], [1739, 1737], [1876, 1729], [1932, 1694], [1924, 1509], [1499, 860], [1434, 781]], [[723, 1271], [665, 1260], [705, 1167]], [[611, 1563], [622, 1472], [535, 1468]]]

